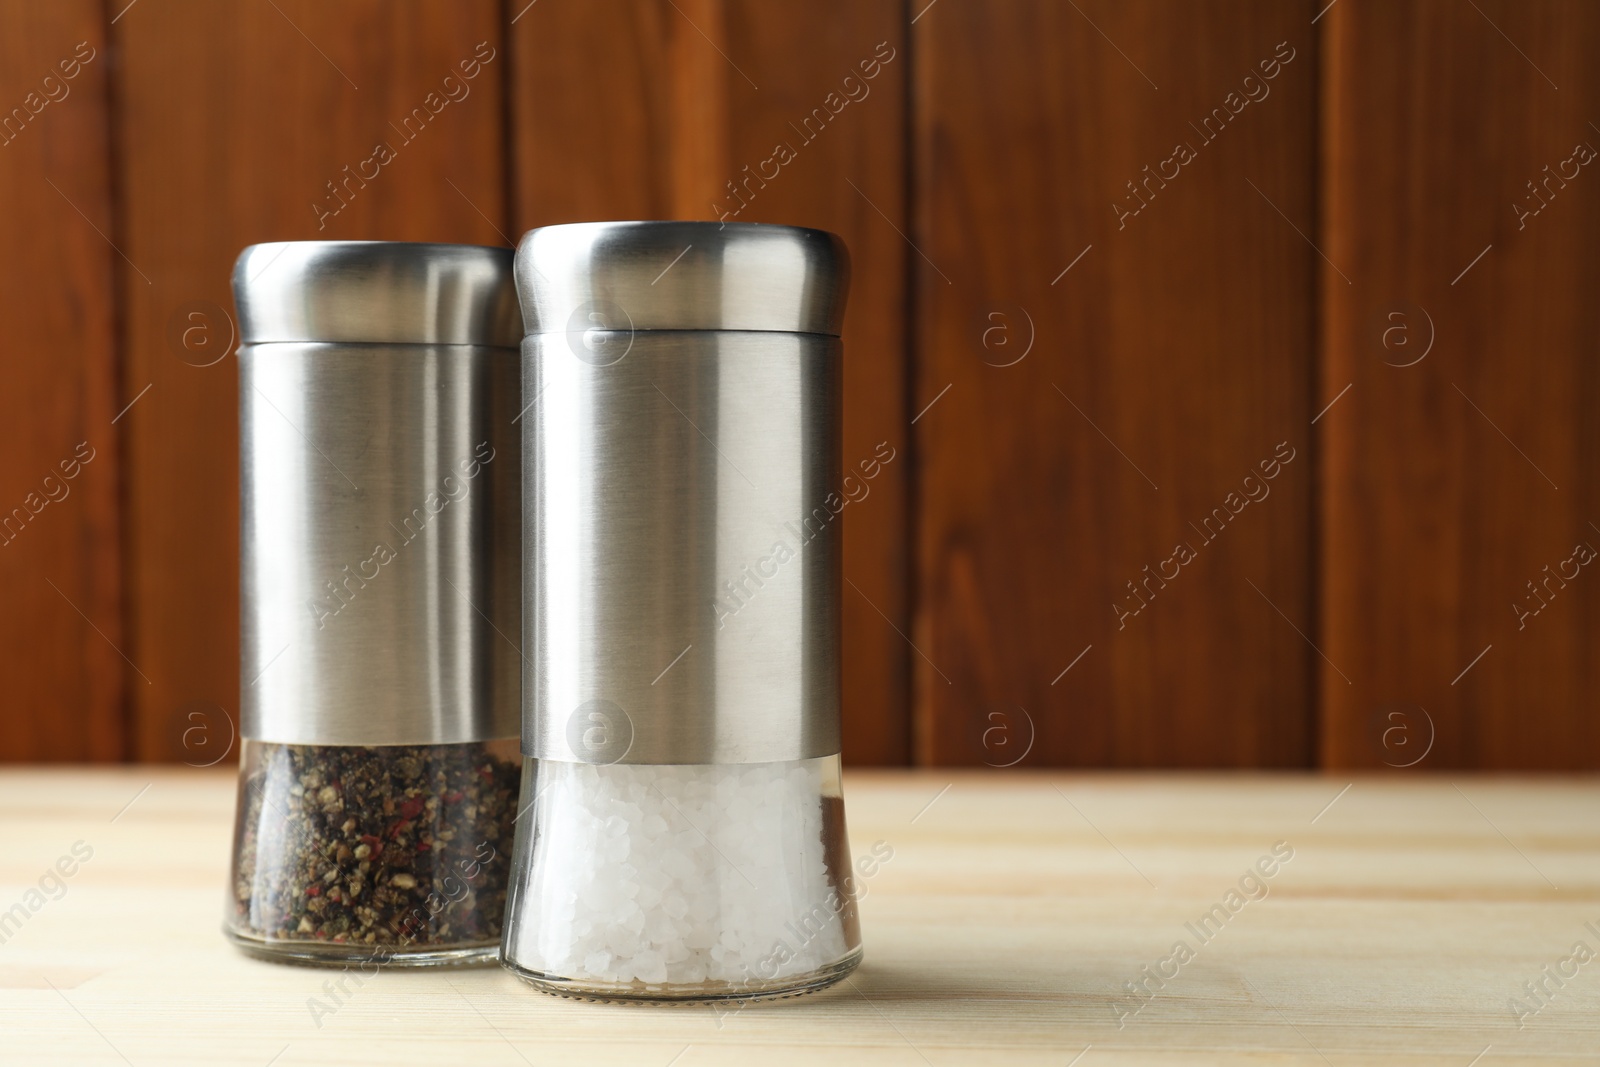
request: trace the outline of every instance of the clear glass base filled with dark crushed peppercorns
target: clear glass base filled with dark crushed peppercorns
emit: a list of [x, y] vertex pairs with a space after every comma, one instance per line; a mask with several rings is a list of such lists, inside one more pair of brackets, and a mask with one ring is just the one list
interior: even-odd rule
[[245, 741], [224, 933], [280, 963], [493, 960], [517, 741]]

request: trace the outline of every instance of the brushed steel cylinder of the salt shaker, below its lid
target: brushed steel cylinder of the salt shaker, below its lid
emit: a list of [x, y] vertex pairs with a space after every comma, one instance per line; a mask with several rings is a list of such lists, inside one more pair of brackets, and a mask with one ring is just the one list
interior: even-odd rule
[[[838, 752], [835, 338], [525, 344], [523, 747], [592, 763]], [[603, 413], [603, 414], [602, 414]], [[835, 498], [837, 499], [837, 498]]]

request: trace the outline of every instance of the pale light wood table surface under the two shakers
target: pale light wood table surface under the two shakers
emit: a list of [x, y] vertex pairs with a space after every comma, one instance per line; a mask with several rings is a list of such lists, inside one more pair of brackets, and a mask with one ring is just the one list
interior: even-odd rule
[[218, 933], [232, 774], [8, 769], [0, 912], [93, 856], [0, 944], [0, 1062], [1600, 1061], [1595, 779], [856, 771], [845, 798], [853, 851], [894, 853], [846, 984], [718, 1017], [386, 971], [317, 1025], [326, 973]]

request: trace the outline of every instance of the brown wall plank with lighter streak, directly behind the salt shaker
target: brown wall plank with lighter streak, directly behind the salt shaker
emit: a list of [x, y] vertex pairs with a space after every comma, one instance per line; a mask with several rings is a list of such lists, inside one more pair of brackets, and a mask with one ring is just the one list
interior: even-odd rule
[[[819, 13], [757, 0], [606, 0], [517, 8], [509, 40], [518, 230], [726, 214], [822, 227], [850, 245], [845, 462], [859, 475], [866, 461], [875, 477], [853, 483], [859, 499], [843, 512], [845, 758], [904, 763], [902, 6], [872, 0]], [[597, 56], [603, 77], [595, 77]], [[816, 109], [822, 114], [806, 126]], [[880, 443], [888, 462], [875, 461]]]

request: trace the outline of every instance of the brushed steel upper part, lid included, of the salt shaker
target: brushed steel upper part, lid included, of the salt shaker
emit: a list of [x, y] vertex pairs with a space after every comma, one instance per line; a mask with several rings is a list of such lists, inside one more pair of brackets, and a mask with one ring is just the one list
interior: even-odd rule
[[557, 226], [517, 270], [523, 752], [838, 753], [843, 245]]

